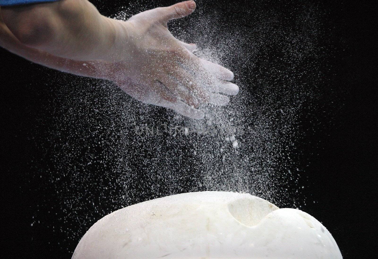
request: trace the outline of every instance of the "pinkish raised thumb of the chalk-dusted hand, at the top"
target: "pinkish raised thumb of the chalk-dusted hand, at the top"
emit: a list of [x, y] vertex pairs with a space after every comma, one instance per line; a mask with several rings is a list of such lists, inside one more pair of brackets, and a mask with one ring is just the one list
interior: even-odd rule
[[185, 1], [175, 5], [159, 8], [161, 21], [168, 23], [170, 20], [180, 19], [191, 14], [196, 7], [194, 1]]

